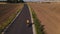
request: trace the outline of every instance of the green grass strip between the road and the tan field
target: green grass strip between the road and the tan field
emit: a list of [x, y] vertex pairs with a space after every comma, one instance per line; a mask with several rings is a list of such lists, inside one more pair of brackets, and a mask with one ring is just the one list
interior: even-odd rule
[[37, 34], [45, 34], [44, 25], [40, 24], [41, 21], [39, 21], [39, 19], [37, 18], [34, 10], [31, 7], [29, 7], [29, 8], [31, 9], [31, 12], [32, 12], [32, 18], [33, 18], [33, 21], [34, 21], [34, 24], [35, 24], [36, 33]]

